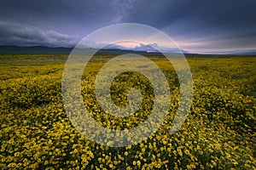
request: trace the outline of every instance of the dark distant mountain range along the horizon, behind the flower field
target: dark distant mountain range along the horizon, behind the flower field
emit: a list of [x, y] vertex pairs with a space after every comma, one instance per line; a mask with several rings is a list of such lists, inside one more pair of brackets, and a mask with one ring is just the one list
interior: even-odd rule
[[[32, 47], [20, 47], [13, 45], [2, 45], [0, 46], [0, 54], [70, 54], [73, 48], [49, 48], [44, 46], [32, 46]], [[182, 50], [183, 51], [183, 50]], [[130, 49], [119, 49], [119, 48], [103, 48], [97, 52], [97, 54], [160, 54], [158, 52], [152, 51], [139, 51]], [[191, 55], [187, 51], [183, 51], [183, 54]], [[245, 53], [218, 53], [217, 55], [227, 55], [227, 54], [256, 54], [256, 51], [245, 52]], [[203, 55], [203, 54], [200, 54]], [[212, 54], [207, 54], [212, 55]]]

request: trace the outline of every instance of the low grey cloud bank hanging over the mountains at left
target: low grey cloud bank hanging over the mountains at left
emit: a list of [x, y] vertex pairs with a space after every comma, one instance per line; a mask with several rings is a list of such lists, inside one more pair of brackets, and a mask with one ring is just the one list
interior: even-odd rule
[[52, 30], [0, 22], [0, 45], [73, 47], [78, 41], [78, 37], [71, 37]]

